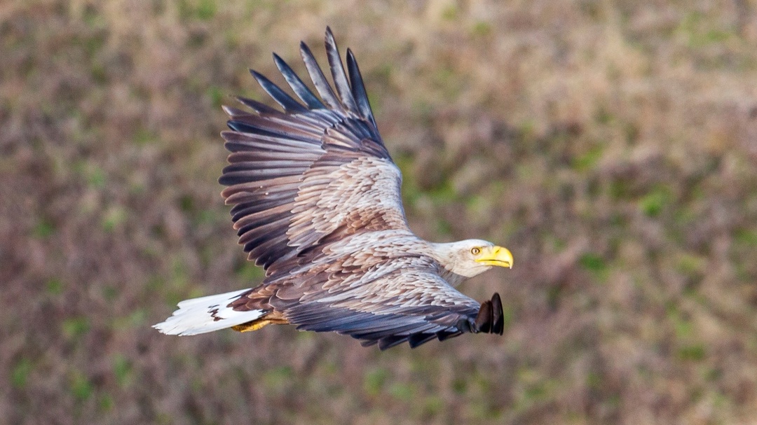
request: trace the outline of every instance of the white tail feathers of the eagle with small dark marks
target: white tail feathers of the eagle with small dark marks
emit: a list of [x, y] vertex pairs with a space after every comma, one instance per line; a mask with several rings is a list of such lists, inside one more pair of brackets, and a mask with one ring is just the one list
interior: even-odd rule
[[254, 321], [266, 314], [263, 310], [237, 312], [227, 307], [229, 302], [239, 298], [248, 290], [219, 293], [179, 302], [179, 309], [170, 318], [154, 324], [157, 330], [168, 335], [197, 335], [213, 330]]

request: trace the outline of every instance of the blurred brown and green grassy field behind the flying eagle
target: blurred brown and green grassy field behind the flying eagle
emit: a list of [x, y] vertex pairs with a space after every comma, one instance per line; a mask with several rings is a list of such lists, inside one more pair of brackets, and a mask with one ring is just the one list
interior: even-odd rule
[[[422, 237], [504, 337], [151, 329], [261, 272], [216, 179], [270, 51], [357, 54]], [[0, 5], [4, 423], [753, 423], [757, 3]]]

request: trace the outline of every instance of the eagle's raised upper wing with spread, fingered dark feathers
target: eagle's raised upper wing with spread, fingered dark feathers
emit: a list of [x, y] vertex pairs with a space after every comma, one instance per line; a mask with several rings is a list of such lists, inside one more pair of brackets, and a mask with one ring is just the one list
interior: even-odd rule
[[336, 93], [307, 45], [301, 54], [320, 99], [276, 54], [295, 101], [251, 71], [283, 112], [251, 99], [255, 113], [225, 107], [231, 151], [220, 183], [239, 243], [268, 275], [277, 264], [316, 247], [326, 237], [360, 231], [409, 230], [400, 198], [400, 170], [378, 135], [360, 70], [347, 50], [349, 81], [326, 29]]

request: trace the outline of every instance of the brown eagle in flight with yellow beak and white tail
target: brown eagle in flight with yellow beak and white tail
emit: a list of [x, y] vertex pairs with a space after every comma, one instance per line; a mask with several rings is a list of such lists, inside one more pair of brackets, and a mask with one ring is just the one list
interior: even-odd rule
[[297, 99], [251, 70], [281, 110], [238, 97], [223, 107], [229, 165], [219, 179], [239, 244], [265, 270], [257, 287], [179, 302], [154, 327], [171, 335], [267, 324], [337, 332], [388, 349], [462, 333], [503, 333], [502, 301], [455, 289], [512, 254], [486, 240], [432, 243], [410, 231], [402, 175], [378, 134], [363, 77], [347, 72], [326, 28], [329, 84], [310, 48], [300, 53], [318, 96], [277, 54]]

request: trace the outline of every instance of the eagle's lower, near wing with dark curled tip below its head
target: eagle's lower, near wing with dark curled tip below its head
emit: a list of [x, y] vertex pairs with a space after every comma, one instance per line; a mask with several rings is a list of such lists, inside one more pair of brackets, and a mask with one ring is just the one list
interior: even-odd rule
[[411, 348], [465, 332], [502, 335], [499, 294], [479, 304], [427, 272], [395, 271], [378, 281], [290, 306], [285, 312], [298, 329], [334, 331], [388, 349], [407, 341]]

